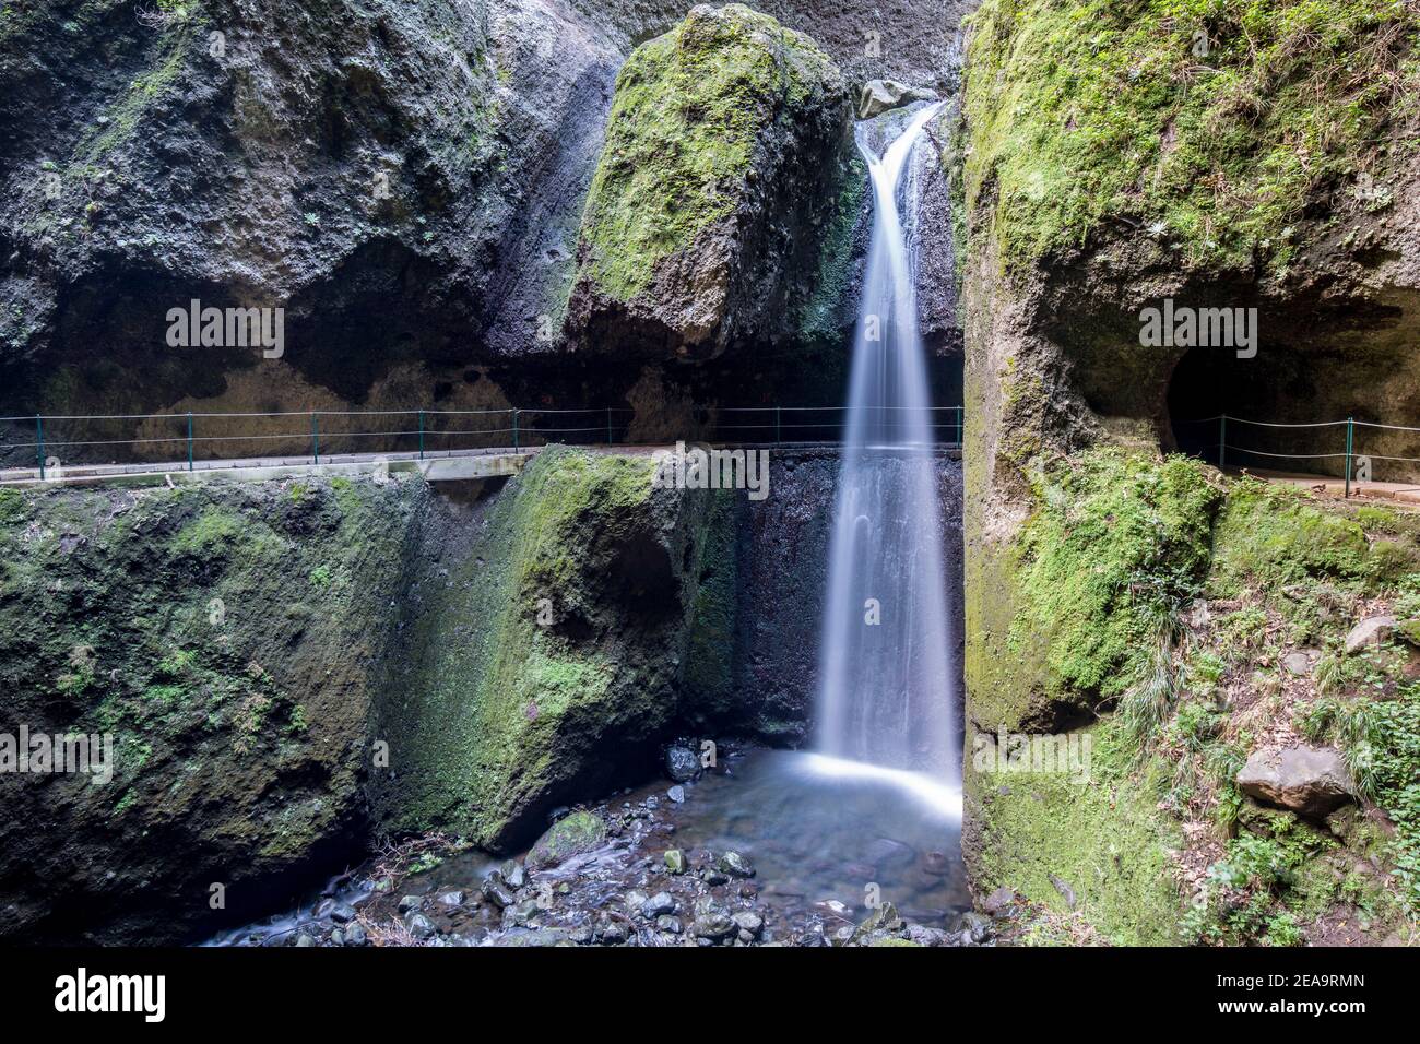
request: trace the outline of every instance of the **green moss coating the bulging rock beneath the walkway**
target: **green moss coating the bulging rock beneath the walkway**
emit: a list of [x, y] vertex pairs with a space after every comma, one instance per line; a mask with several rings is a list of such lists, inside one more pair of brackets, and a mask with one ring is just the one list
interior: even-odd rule
[[419, 670], [400, 679], [409, 700], [382, 726], [396, 773], [381, 797], [386, 830], [521, 839], [568, 774], [602, 760], [595, 737], [669, 720], [677, 649], [643, 666], [605, 632], [582, 638], [608, 601], [636, 598], [602, 588], [625, 575], [595, 561], [656, 531], [655, 467], [551, 446], [491, 506], [477, 554], [410, 631]]

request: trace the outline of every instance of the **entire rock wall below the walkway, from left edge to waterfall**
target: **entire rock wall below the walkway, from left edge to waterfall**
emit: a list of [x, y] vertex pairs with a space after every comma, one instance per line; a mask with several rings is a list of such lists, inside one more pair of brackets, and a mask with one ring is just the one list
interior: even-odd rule
[[0, 736], [115, 743], [105, 785], [0, 773], [0, 936], [189, 940], [372, 835], [517, 848], [679, 734], [801, 741], [836, 455], [763, 501], [655, 467], [0, 493]]

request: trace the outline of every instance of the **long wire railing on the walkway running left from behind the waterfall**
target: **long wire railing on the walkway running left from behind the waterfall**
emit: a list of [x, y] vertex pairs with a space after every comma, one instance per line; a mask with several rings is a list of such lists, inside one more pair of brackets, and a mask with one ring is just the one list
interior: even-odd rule
[[[679, 437], [711, 443], [835, 443], [842, 440], [851, 412], [849, 406], [692, 406], [694, 419]], [[929, 413], [932, 445], [960, 446], [963, 408], [934, 406]], [[273, 422], [280, 430], [268, 430]], [[41, 479], [54, 466], [50, 462], [61, 456], [68, 457], [65, 464], [80, 463], [72, 457], [75, 453], [88, 457], [85, 463], [97, 463], [92, 457], [105, 450], [119, 455], [126, 450], [126, 456], [139, 457], [128, 463], [155, 464], [162, 453], [153, 447], [163, 446], [173, 450], [166, 463], [195, 470], [199, 462], [281, 456], [283, 446], [297, 447], [284, 456], [300, 453], [320, 464], [322, 457], [348, 453], [400, 453], [423, 460], [426, 455], [524, 450], [550, 442], [613, 446], [666, 442], [666, 437], [639, 437], [636, 410], [623, 406], [24, 415], [0, 418], [0, 423], [33, 430], [30, 439], [0, 443], [0, 459], [11, 450], [31, 450]], [[233, 449], [248, 452], [223, 452]]]

